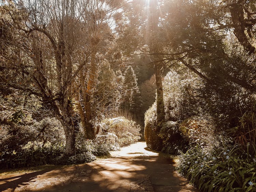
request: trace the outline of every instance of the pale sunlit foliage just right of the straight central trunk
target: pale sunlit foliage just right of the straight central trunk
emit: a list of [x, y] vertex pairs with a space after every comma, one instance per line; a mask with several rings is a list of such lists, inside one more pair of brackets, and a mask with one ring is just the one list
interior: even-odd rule
[[168, 72], [163, 80], [166, 119], [177, 121], [198, 114], [201, 108], [198, 98], [200, 87], [203, 87], [200, 79], [189, 72], [184, 75]]

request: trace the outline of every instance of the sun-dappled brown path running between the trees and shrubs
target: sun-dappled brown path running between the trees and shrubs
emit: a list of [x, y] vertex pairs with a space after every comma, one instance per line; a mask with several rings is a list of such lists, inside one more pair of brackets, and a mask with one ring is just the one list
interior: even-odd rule
[[0, 191], [197, 191], [175, 172], [174, 161], [138, 142], [113, 158], [29, 174], [0, 176]]

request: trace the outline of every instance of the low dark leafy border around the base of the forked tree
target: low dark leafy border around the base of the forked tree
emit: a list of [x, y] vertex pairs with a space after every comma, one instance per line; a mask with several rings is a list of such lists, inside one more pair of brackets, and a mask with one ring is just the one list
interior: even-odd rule
[[[25, 129], [21, 130], [26, 131]], [[52, 135], [54, 133], [54, 130], [48, 130], [47, 132], [47, 129], [45, 129], [44, 131], [44, 135]], [[27, 132], [27, 134], [28, 133], [29, 132]], [[15, 134], [11, 134], [11, 136], [15, 136]], [[24, 137], [24, 135], [22, 136]], [[61, 137], [63, 137], [63, 135]], [[97, 143], [85, 139], [83, 132], [80, 132], [80, 135], [77, 136], [76, 154], [71, 157], [65, 155], [65, 145], [56, 142], [54, 138], [48, 139], [47, 142], [40, 140], [41, 142], [35, 141], [34, 143], [31, 142], [31, 138], [27, 137], [24, 138], [25, 140], [22, 138], [17, 139], [16, 137], [13, 141], [10, 141], [9, 139], [11, 139], [11, 137], [3, 140], [4, 142], [1, 145], [1, 147], [5, 147], [5, 150], [1, 149], [0, 153], [1, 168], [28, 167], [44, 164], [80, 164], [94, 161], [95, 156], [109, 155], [109, 148], [105, 143]], [[21, 143], [22, 141], [24, 142]], [[53, 142], [51, 143], [50, 141]], [[16, 144], [16, 146], [13, 146], [13, 144]]]

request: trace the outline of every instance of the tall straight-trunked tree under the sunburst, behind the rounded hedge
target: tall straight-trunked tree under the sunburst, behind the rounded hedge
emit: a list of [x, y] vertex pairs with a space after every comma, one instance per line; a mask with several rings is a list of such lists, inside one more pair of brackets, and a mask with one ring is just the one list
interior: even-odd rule
[[157, 92], [157, 119], [158, 123], [165, 120], [163, 105], [162, 77], [161, 71], [163, 59], [158, 55], [162, 50], [158, 42], [158, 26], [160, 10], [158, 1], [151, 0], [148, 4], [142, 0], [129, 1], [126, 4], [124, 18], [117, 23], [116, 30], [119, 32], [120, 47], [124, 53], [148, 55], [150, 57], [150, 68], [154, 69]]

